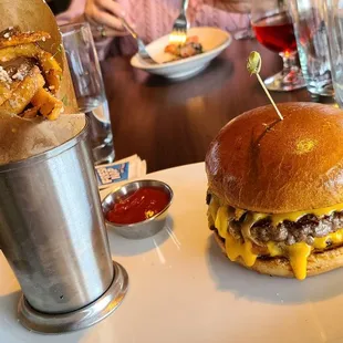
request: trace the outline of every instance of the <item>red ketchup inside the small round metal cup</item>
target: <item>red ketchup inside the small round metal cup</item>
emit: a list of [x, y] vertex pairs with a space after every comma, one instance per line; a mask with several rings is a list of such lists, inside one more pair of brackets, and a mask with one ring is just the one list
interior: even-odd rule
[[168, 195], [159, 188], [142, 187], [116, 202], [106, 219], [114, 224], [134, 224], [146, 220], [165, 209]]

